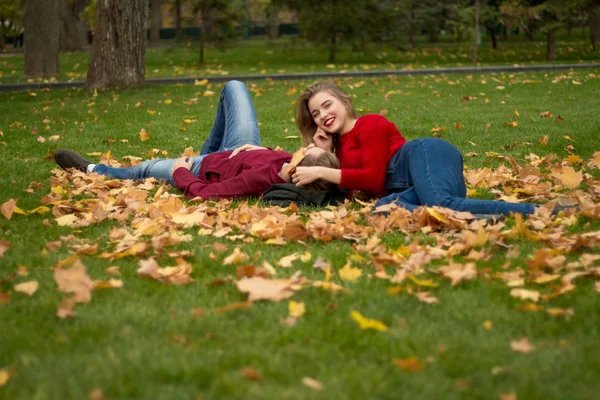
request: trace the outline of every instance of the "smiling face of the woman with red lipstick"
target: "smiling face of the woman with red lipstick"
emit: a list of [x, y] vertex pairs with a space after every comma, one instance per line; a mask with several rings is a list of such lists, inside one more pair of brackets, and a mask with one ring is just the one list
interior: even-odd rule
[[346, 104], [328, 91], [321, 91], [308, 100], [308, 110], [315, 124], [327, 133], [344, 134], [352, 129], [354, 120], [348, 116]]

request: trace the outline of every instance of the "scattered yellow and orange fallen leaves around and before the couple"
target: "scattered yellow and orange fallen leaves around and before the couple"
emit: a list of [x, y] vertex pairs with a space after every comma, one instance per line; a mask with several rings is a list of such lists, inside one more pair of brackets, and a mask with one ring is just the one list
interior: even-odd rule
[[[411, 213], [392, 205], [386, 206], [388, 214], [383, 216], [372, 213], [374, 202], [359, 200], [318, 210], [299, 209], [294, 204], [265, 207], [252, 200], [186, 201], [174, 188], [155, 179], [110, 180], [56, 169], [50, 192], [39, 207], [25, 211], [10, 199], [1, 211], [7, 219], [15, 214], [20, 214], [17, 218], [47, 214], [45, 225], [73, 228], [74, 234], [48, 242], [44, 249], [52, 252], [66, 246], [72, 254], [52, 267], [57, 288], [65, 294], [57, 305], [59, 318], [75, 316], [76, 305], [91, 301], [94, 290], [124, 285], [117, 278], [92, 280], [84, 265], [86, 258], [106, 259], [112, 264], [134, 257], [140, 278], [186, 285], [194, 281], [194, 268], [198, 268], [186, 244], [198, 236], [215, 239], [210, 258], [237, 267], [236, 274], [224, 277], [223, 283], [232, 282], [248, 294], [247, 301], [220, 311], [246, 308], [257, 301], [281, 301], [307, 288], [349, 292], [344, 284], [361, 279], [388, 281], [390, 295], [406, 294], [435, 304], [439, 303], [435, 288], [441, 281], [456, 286], [482, 279], [503, 281], [507, 293], [523, 301], [524, 311], [572, 316], [573, 309], [552, 307], [548, 302], [575, 290], [576, 281], [583, 278], [593, 279], [594, 290], [600, 292], [600, 255], [594, 254], [600, 231], [569, 233], [569, 227], [584, 218], [600, 219], [600, 180], [594, 177], [600, 169], [600, 152], [589, 160], [530, 154], [523, 165], [496, 153], [487, 156], [504, 163], [496, 169], [467, 169], [470, 195], [485, 190], [499, 200], [546, 205], [526, 218], [515, 215], [492, 221], [440, 207], [420, 207]], [[556, 204], [576, 205], [577, 209], [552, 215]], [[106, 237], [85, 237], [82, 228], [108, 221], [116, 224]], [[403, 233], [408, 244], [388, 248], [381, 237], [390, 232]], [[78, 233], [83, 234], [76, 236]], [[524, 256], [518, 243], [524, 240], [542, 246], [526, 255], [525, 265], [518, 261]], [[244, 251], [245, 244], [257, 241], [273, 246], [295, 241], [306, 245], [307, 251], [260, 262]], [[331, 260], [313, 259], [312, 241], [350, 241], [354, 251], [347, 255], [345, 265], [334, 271]], [[233, 250], [224, 243], [232, 243]], [[0, 258], [10, 247], [10, 242], [0, 242]], [[498, 252], [506, 258], [500, 269], [482, 266]], [[571, 254], [577, 254], [577, 259], [569, 261]], [[302, 270], [292, 268], [300, 263], [322, 271], [322, 279], [303, 277]], [[118, 276], [119, 267], [111, 265], [107, 272]], [[27, 271], [5, 277], [3, 282], [16, 275], [27, 275]], [[15, 284], [14, 290], [33, 295], [38, 286], [37, 281], [27, 281]], [[10, 293], [0, 293], [0, 300], [8, 302]], [[291, 301], [287, 323], [293, 324], [303, 313], [304, 304]], [[387, 329], [358, 311], [351, 317], [363, 329]]]

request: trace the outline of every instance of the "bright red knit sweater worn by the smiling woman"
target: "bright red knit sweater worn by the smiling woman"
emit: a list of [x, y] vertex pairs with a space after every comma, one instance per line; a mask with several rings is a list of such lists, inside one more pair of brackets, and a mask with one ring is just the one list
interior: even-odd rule
[[406, 139], [385, 117], [367, 114], [354, 128], [340, 136], [336, 154], [342, 166], [340, 186], [384, 196], [388, 163]]

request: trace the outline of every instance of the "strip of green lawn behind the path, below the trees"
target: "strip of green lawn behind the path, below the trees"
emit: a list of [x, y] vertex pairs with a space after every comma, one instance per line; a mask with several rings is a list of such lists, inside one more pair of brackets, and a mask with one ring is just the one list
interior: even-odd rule
[[[302, 40], [280, 39], [273, 42], [250, 40], [232, 42], [231, 48], [221, 51], [209, 48], [205, 64], [199, 63], [196, 42], [177, 45], [171, 42], [166, 47], [151, 47], [146, 52], [146, 77], [187, 77], [261, 75], [298, 72], [370, 71], [380, 69], [415, 69], [437, 67], [471, 66], [469, 44], [443, 43], [425, 45], [414, 50], [372, 45], [367, 50], [356, 50], [342, 46], [335, 63], [328, 61], [325, 47], [307, 46]], [[500, 42], [494, 50], [489, 45], [479, 49], [478, 65], [531, 65], [548, 63], [545, 60], [546, 44]], [[60, 54], [60, 75], [56, 81], [85, 80], [89, 63], [89, 52]], [[588, 40], [571, 39], [557, 43], [556, 60], [552, 63], [597, 62], [598, 51], [594, 51]], [[0, 83], [24, 83], [23, 55], [0, 57]], [[37, 78], [33, 81], [42, 81]]]

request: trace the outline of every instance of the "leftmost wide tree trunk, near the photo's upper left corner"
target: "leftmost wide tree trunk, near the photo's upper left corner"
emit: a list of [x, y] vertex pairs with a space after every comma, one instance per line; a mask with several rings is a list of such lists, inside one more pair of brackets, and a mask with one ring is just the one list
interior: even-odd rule
[[28, 0], [25, 4], [25, 75], [57, 75], [60, 7], [58, 0]]

